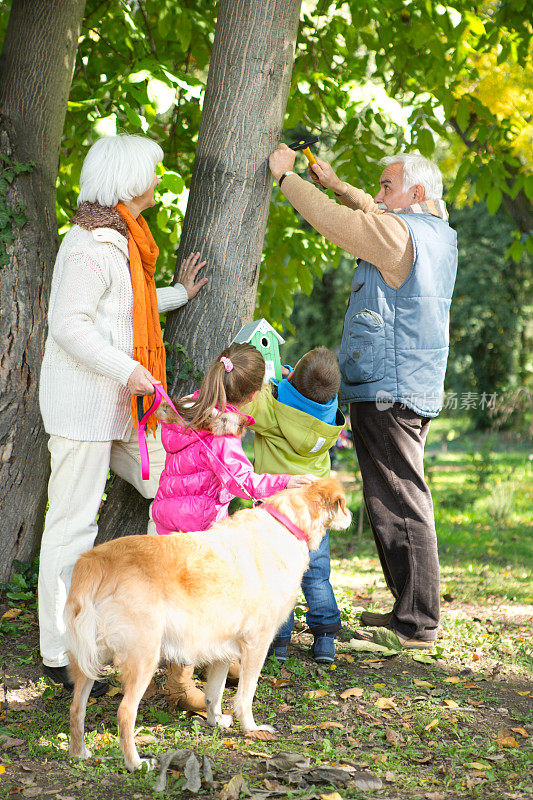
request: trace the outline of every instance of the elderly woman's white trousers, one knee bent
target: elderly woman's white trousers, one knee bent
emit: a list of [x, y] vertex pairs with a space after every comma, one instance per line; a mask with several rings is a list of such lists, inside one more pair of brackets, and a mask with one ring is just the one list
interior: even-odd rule
[[[93, 547], [98, 533], [96, 518], [109, 469], [131, 483], [143, 497], [155, 497], [165, 465], [159, 428], [157, 438], [150, 432], [146, 440], [150, 479], [143, 481], [136, 429], [124, 442], [79, 442], [50, 436], [52, 472], [39, 566], [41, 655], [49, 667], [68, 664], [63, 612], [74, 564]], [[147, 532], [155, 534], [151, 517]]]

